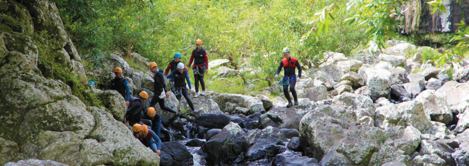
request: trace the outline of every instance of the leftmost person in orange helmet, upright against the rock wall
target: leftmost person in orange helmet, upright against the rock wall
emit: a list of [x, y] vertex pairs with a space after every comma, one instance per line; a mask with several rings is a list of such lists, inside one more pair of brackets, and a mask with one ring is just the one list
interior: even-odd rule
[[128, 106], [128, 101], [130, 100], [130, 90], [128, 88], [127, 79], [124, 78], [122, 75], [122, 69], [119, 67], [114, 68], [114, 74], [116, 77], [111, 80], [109, 89], [119, 92], [126, 100], [126, 105]]

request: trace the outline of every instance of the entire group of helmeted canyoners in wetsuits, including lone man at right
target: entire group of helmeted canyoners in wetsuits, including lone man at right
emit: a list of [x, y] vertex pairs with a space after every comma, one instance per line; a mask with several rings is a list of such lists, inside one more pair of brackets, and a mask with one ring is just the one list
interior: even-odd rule
[[[194, 97], [199, 97], [200, 95], [206, 94], [204, 75], [208, 73], [209, 61], [207, 58], [207, 52], [202, 48], [202, 40], [197, 39], [195, 41], [195, 45], [196, 47], [192, 50], [192, 55], [187, 67], [190, 67], [193, 62], [192, 70], [195, 80]], [[301, 66], [299, 65], [298, 59], [290, 56], [289, 48], [284, 48], [282, 52], [284, 58], [280, 61], [275, 78], [278, 77], [278, 74], [283, 68], [284, 76], [279, 81], [279, 84], [283, 86], [285, 98], [288, 100], [288, 105], [286, 105], [286, 107], [292, 107], [293, 105], [298, 106], [298, 97], [295, 91], [295, 85], [301, 77]], [[181, 61], [181, 54], [175, 53], [173, 58], [174, 59], [166, 67], [164, 74], [162, 69], [158, 69], [158, 64], [156, 64], [156, 62], [151, 62], [149, 64], [149, 70], [151, 73], [148, 74], [154, 80], [153, 86], [155, 95], [152, 97], [150, 107], [148, 109], [143, 108], [143, 103], [149, 99], [148, 93], [142, 91], [137, 97], [130, 97], [128, 82], [124, 78], [121, 68], [114, 68], [115, 78], [110, 81], [109, 86], [111, 90], [119, 92], [126, 101], [127, 111], [124, 124], [133, 131], [135, 138], [158, 155], [161, 155], [160, 134], [162, 131], [164, 133], [169, 133], [169, 131], [161, 125], [161, 116], [156, 113], [154, 109], [156, 103], [159, 104], [162, 110], [174, 113], [175, 116], [178, 117], [181, 115], [179, 109], [181, 96], [184, 96], [192, 112], [199, 112], [194, 108], [194, 104], [189, 96], [189, 93], [192, 93], [192, 85], [189, 78], [189, 71], [184, 62]], [[298, 76], [295, 74], [296, 68], [298, 68]], [[165, 98], [169, 97], [170, 93], [167, 90], [167, 84], [164, 77], [168, 78], [170, 81], [171, 92], [175, 94], [179, 101], [177, 111], [165, 105]], [[202, 86], [202, 92], [199, 92], [199, 82]], [[189, 90], [186, 85], [189, 86]], [[288, 89], [292, 92], [295, 102], [294, 104], [290, 98]], [[165, 136], [165, 138], [169, 138], [169, 136]]]

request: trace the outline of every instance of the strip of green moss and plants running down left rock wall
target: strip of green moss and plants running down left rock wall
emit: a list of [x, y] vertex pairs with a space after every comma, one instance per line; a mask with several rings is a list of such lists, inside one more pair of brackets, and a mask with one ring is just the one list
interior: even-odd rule
[[34, 41], [39, 50], [39, 61], [51, 70], [51, 75], [44, 76], [62, 80], [70, 87], [72, 94], [77, 96], [86, 106], [104, 108], [96, 93], [91, 92], [90, 87], [85, 84], [86, 80], [70, 74], [70, 71], [67, 70], [68, 67], [57, 61], [57, 53], [52, 49], [57, 43], [47, 35], [46, 31], [36, 32]]

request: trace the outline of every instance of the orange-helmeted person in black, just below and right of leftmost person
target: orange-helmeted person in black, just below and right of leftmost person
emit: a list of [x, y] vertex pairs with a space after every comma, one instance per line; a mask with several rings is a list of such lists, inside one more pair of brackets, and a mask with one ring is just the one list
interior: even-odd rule
[[133, 124], [140, 122], [140, 119], [142, 119], [142, 103], [145, 102], [145, 100], [147, 99], [148, 93], [145, 91], [140, 92], [138, 94], [138, 98], [130, 98], [131, 103], [127, 107], [125, 116], [126, 120], [124, 122], [124, 125], [132, 126]]

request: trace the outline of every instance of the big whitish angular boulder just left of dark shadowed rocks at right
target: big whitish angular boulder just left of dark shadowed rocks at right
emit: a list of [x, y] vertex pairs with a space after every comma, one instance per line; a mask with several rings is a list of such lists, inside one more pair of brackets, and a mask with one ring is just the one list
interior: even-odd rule
[[370, 88], [371, 98], [376, 100], [380, 97], [389, 98], [391, 87], [391, 73], [384, 69], [362, 67], [358, 72], [365, 84]]

